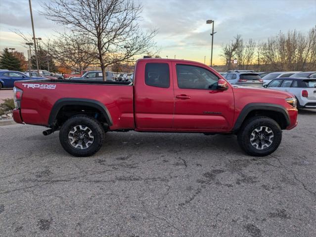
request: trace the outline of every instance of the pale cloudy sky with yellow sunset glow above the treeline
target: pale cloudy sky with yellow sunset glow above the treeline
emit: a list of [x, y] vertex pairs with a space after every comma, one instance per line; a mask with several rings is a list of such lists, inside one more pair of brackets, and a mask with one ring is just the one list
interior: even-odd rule
[[[44, 40], [63, 31], [39, 14], [43, 0], [32, 0], [36, 37]], [[49, 1], [49, 0], [46, 0]], [[221, 46], [240, 34], [245, 41], [266, 41], [279, 31], [307, 33], [316, 25], [316, 0], [139, 0], [144, 31], [158, 29], [159, 55], [210, 63], [214, 20], [213, 64], [223, 64]], [[14, 47], [27, 55], [14, 31], [32, 33], [28, 0], [0, 0], [0, 50]]]

